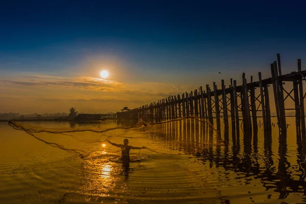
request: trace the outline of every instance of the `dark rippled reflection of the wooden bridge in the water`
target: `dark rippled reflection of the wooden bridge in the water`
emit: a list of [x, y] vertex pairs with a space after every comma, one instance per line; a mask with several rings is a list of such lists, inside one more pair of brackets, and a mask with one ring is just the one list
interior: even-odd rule
[[[289, 124], [295, 122], [294, 118], [287, 118], [287, 121]], [[272, 122], [276, 123], [276, 118]], [[243, 134], [241, 130], [239, 137], [231, 132], [225, 128], [218, 135], [207, 123], [188, 118], [156, 125], [147, 137], [159, 140], [169, 149], [194, 155], [208, 166], [208, 174], [218, 171], [215, 173], [224, 190], [237, 185], [233, 181], [243, 180], [239, 185], [256, 184], [247, 188], [261, 192], [267, 199], [272, 193], [276, 198], [277, 193], [276, 199], [287, 200], [289, 195], [299, 195], [299, 200], [305, 201], [302, 196], [306, 195], [306, 144], [304, 138], [296, 135], [294, 125], [289, 125], [287, 134], [281, 135], [277, 127], [272, 127], [271, 132], [259, 129], [252, 135]], [[218, 189], [221, 194], [222, 189]]]

